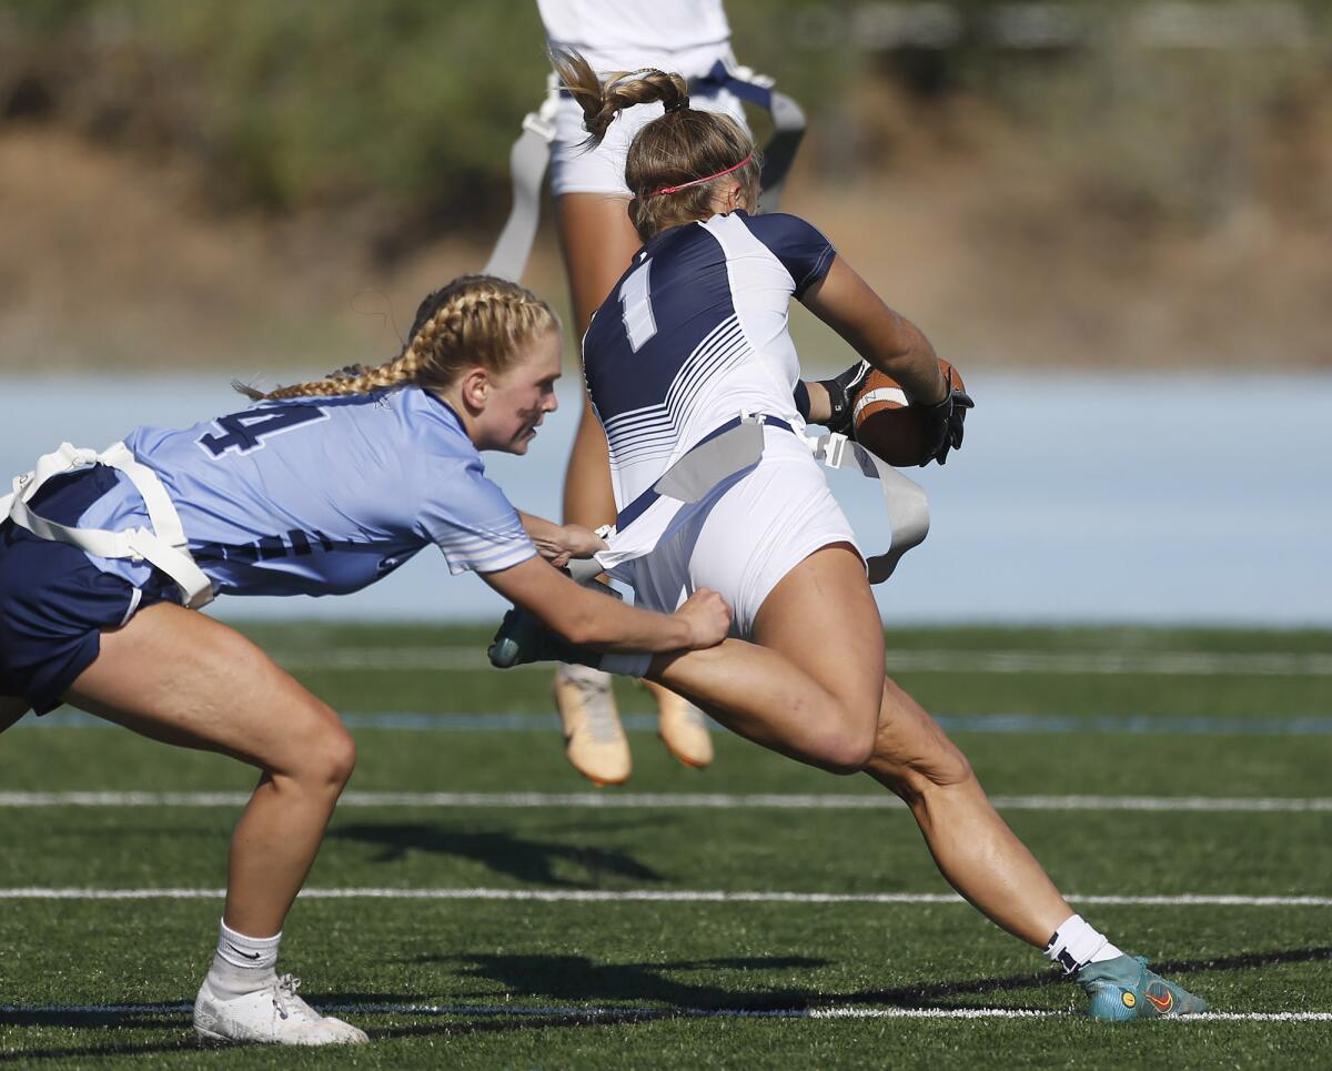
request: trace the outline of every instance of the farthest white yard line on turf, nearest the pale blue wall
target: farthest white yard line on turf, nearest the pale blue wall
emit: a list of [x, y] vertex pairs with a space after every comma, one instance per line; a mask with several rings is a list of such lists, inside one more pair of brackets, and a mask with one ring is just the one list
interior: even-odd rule
[[[330, 647], [277, 651], [285, 669], [309, 670], [489, 670], [477, 647]], [[886, 655], [890, 673], [1136, 673], [1147, 675], [1332, 677], [1332, 654], [1219, 654], [1212, 651], [1006, 651], [895, 650]], [[550, 663], [522, 670], [550, 673]]]

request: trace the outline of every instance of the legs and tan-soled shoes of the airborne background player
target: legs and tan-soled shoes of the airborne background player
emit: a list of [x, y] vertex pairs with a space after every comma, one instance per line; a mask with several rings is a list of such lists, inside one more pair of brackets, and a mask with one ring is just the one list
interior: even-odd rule
[[[639, 246], [629, 222], [629, 198], [607, 193], [565, 193], [557, 198], [559, 242], [569, 270], [574, 329], [582, 338], [611, 288]], [[579, 380], [581, 382], [581, 380]], [[582, 413], [565, 472], [565, 521], [597, 529], [615, 521], [606, 433], [582, 390]], [[662, 739], [681, 762], [707, 766], [713, 742], [699, 713], [661, 685], [645, 682], [657, 698]], [[629, 743], [619, 726], [609, 674], [562, 667], [555, 674], [555, 701], [565, 726], [569, 759], [598, 783], [629, 777]]]

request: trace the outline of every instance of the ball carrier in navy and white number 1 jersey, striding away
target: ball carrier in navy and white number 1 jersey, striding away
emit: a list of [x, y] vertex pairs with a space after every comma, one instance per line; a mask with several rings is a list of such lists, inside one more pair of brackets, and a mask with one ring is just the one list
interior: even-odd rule
[[[639, 605], [669, 610], [713, 589], [737, 638], [643, 655], [637, 670], [743, 737], [834, 773], [864, 771], [910, 806], [943, 875], [998, 926], [1043, 948], [1100, 1019], [1205, 1004], [1126, 956], [1079, 915], [998, 815], [938, 723], [883, 673], [883, 626], [855, 536], [802, 436], [844, 413], [838, 381], [806, 385], [787, 332], [791, 297], [902, 384], [940, 464], [970, 398], [934, 349], [814, 226], [750, 214], [759, 161], [731, 120], [690, 107], [661, 71], [605, 85], [577, 53], [557, 61], [591, 140], [655, 101], [627, 155], [630, 218], [643, 242], [583, 340], [589, 396], [606, 429], [618, 510], [609, 551]], [[698, 444], [761, 422], [746, 458], [697, 501], [657, 481]]]

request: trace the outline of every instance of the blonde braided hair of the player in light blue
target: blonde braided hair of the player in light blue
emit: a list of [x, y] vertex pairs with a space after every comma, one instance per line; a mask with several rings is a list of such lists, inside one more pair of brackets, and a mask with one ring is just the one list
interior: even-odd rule
[[276, 390], [233, 386], [253, 401], [345, 397], [396, 386], [445, 389], [469, 368], [503, 373], [518, 349], [559, 318], [531, 290], [496, 276], [460, 276], [417, 308], [402, 353], [376, 368], [356, 365]]

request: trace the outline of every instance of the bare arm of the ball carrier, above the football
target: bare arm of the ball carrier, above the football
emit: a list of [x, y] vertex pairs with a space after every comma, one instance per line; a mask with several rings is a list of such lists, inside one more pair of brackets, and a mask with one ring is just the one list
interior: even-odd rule
[[[930, 340], [890, 309], [842, 257], [832, 258], [829, 273], [801, 301], [874, 368], [902, 384], [912, 404], [935, 405], [947, 398], [948, 385]], [[814, 392], [810, 394], [814, 401]]]

